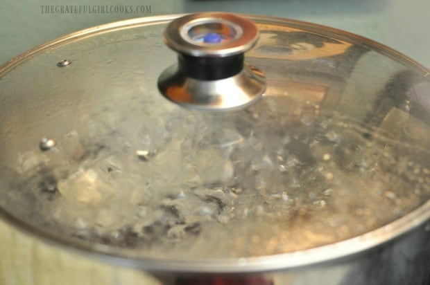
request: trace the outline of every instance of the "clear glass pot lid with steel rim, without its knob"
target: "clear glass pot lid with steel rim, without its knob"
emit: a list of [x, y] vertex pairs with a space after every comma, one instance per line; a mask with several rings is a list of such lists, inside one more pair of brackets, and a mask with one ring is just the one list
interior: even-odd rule
[[426, 68], [339, 30], [247, 16], [264, 96], [184, 108], [157, 88], [178, 60], [163, 43], [176, 17], [91, 28], [1, 67], [3, 217], [134, 266], [218, 272], [348, 255], [429, 219]]

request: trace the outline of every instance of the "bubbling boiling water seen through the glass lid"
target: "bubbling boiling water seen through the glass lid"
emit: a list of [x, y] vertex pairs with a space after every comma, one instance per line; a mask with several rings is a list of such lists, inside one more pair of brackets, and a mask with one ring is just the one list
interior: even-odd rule
[[72, 239], [214, 258], [334, 243], [429, 199], [425, 147], [279, 100], [231, 113], [105, 105], [53, 149], [20, 152], [25, 178], [3, 204]]

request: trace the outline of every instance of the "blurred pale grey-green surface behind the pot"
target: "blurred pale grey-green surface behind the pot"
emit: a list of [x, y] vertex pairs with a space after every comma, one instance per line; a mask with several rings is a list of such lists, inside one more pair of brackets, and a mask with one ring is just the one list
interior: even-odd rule
[[[139, 12], [62, 14], [60, 8], [55, 8], [71, 5], [123, 5]], [[51, 6], [54, 6], [53, 13], [49, 10]], [[123, 0], [121, 3], [3, 0], [0, 3], [0, 64], [34, 46], [84, 28], [135, 17], [203, 10], [270, 15], [339, 28], [390, 46], [430, 67], [429, 0]]]

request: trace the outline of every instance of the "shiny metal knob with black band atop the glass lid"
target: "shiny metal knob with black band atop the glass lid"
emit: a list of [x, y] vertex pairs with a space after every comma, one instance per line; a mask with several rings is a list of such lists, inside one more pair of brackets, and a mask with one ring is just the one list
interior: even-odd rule
[[160, 92], [194, 109], [222, 111], [255, 102], [266, 90], [266, 80], [257, 68], [244, 64], [244, 53], [258, 37], [252, 21], [228, 13], [175, 19], [164, 31], [164, 41], [178, 52], [178, 64], [160, 75]]

